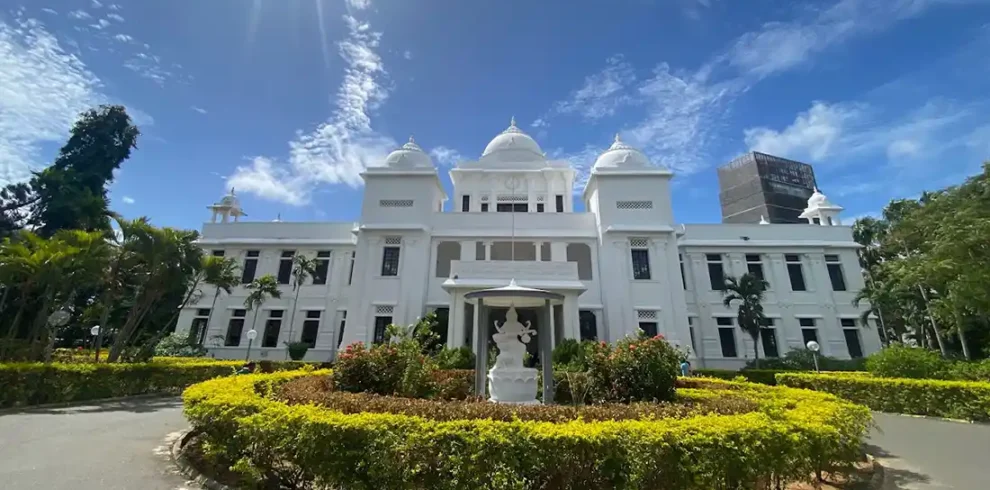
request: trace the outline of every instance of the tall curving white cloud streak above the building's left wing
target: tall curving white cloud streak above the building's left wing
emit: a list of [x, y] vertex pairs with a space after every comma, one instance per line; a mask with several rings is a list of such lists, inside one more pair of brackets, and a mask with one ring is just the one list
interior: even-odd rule
[[[353, 1], [352, 1], [353, 3]], [[366, 8], [367, 5], [355, 8]], [[228, 179], [260, 197], [301, 205], [318, 184], [361, 185], [364, 169], [381, 165], [395, 140], [372, 128], [370, 114], [388, 99], [381, 79], [387, 76], [377, 53], [381, 33], [366, 22], [344, 16], [348, 34], [338, 43], [346, 63], [337, 89], [336, 110], [316, 129], [289, 142], [286, 162], [256, 158], [250, 167], [238, 167]]]

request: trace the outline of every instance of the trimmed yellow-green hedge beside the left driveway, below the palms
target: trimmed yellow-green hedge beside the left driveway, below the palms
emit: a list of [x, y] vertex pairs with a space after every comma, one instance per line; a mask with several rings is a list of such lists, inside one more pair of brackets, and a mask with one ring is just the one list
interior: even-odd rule
[[242, 364], [212, 359], [141, 364], [0, 364], [0, 408], [179, 393], [189, 385], [232, 374]]

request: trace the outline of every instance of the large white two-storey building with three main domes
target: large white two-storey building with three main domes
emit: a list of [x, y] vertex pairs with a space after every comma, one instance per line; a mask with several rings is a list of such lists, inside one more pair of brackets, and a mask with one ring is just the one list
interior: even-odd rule
[[[211, 317], [214, 294], [204, 288], [179, 331], [211, 318], [204, 338], [217, 357], [243, 358], [254, 328], [253, 358], [284, 359], [285, 342], [302, 339], [312, 345], [307, 359], [329, 360], [339, 347], [381, 341], [389, 323], [436, 311], [448, 345], [471, 346], [477, 312], [465, 293], [515, 279], [564, 295], [553, 311], [554, 342], [612, 342], [642, 329], [690, 348], [696, 367], [737, 368], [754, 346], [717, 287], [723, 274], [752, 272], [770, 283], [764, 306], [772, 322], [760, 357], [811, 339], [838, 358], [880, 348], [852, 304], [863, 286], [858, 245], [840, 226], [842, 208], [818, 192], [803, 215], [807, 226], [677, 224], [673, 174], [616, 137], [584, 186], [586, 211], [575, 212], [574, 169], [547, 159], [514, 123], [481, 158], [450, 171], [451, 210], [443, 209], [448, 196], [436, 167], [412, 139], [363, 177], [357, 223], [238, 221], [245, 215], [233, 191], [211, 206], [204, 249], [235, 257], [245, 283], [277, 276], [283, 294], [245, 311], [247, 291], [237, 287], [219, 296]], [[320, 261], [298, 304], [289, 285], [294, 254]], [[538, 327], [535, 315], [520, 311], [520, 319]]]

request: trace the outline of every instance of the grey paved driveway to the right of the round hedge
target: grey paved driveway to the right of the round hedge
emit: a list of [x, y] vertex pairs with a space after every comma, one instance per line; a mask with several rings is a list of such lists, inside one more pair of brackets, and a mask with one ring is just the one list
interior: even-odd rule
[[867, 452], [887, 468], [888, 490], [990, 488], [990, 425], [874, 413]]

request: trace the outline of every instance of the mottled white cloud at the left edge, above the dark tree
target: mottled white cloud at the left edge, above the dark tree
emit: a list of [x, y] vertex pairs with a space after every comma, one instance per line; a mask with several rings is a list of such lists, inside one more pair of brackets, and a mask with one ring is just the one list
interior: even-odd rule
[[39, 146], [61, 142], [104, 98], [100, 80], [33, 19], [0, 20], [0, 185], [42, 166]]

